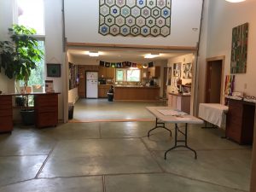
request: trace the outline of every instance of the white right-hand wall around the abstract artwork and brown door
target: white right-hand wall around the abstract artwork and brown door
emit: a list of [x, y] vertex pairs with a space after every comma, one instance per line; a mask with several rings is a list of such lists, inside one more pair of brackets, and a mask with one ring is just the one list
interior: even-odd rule
[[[209, 18], [207, 32], [207, 58], [225, 56], [224, 75], [230, 74], [230, 55], [232, 28], [249, 23], [247, 73], [235, 74], [235, 90], [243, 91], [246, 95], [256, 96], [256, 1], [247, 0], [243, 3], [228, 3], [223, 0], [209, 1]], [[205, 62], [201, 62], [205, 68]], [[200, 71], [200, 76], [205, 75], [205, 70]], [[204, 84], [200, 84], [204, 90]], [[201, 101], [203, 102], [203, 101]]]

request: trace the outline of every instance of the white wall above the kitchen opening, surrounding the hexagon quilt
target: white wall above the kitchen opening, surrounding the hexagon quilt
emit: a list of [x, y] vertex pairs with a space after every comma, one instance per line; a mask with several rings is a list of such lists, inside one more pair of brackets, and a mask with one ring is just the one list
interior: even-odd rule
[[[102, 36], [98, 33], [99, 1], [65, 0], [67, 42], [196, 46], [202, 0], [172, 0], [171, 35], [163, 38]], [[198, 28], [196, 32], [192, 28]]]

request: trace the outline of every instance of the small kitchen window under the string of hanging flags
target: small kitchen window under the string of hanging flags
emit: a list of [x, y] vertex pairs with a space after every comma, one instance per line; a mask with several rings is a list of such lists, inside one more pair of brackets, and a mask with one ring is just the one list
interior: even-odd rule
[[116, 81], [122, 82], [140, 82], [141, 70], [140, 69], [116, 69]]

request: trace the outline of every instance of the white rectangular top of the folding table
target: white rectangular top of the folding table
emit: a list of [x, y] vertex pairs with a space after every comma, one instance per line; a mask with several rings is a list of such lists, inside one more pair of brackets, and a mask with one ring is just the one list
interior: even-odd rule
[[203, 120], [169, 107], [146, 107], [157, 119], [168, 123], [203, 124]]

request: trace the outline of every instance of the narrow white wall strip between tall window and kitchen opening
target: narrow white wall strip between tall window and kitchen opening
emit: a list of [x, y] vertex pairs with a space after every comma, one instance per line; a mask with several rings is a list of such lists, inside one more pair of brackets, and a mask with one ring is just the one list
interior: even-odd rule
[[[55, 92], [59, 95], [59, 119], [64, 117], [64, 98], [66, 95], [66, 70], [64, 54], [62, 52], [62, 23], [61, 23], [61, 0], [44, 0], [45, 4], [45, 63], [61, 63], [61, 78], [45, 79], [54, 81]], [[45, 68], [46, 72], [46, 68]]]

